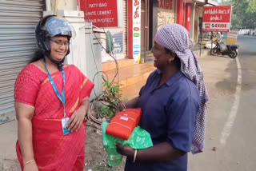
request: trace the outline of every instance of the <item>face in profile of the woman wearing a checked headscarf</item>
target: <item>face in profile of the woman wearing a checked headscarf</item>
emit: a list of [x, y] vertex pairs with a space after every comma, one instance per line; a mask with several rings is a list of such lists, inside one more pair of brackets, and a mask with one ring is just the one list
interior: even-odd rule
[[163, 68], [169, 64], [170, 54], [166, 54], [165, 47], [155, 41], [151, 52], [154, 55], [154, 66], [159, 70], [163, 70]]

